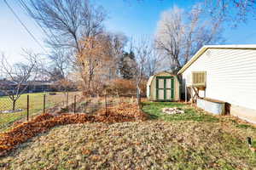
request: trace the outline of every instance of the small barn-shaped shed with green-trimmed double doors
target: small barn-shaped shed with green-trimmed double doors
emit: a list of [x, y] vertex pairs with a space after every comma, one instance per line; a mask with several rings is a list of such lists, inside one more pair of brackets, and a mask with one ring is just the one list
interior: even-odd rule
[[161, 71], [149, 77], [147, 97], [153, 101], [177, 101], [180, 99], [180, 83], [177, 76], [169, 71]]

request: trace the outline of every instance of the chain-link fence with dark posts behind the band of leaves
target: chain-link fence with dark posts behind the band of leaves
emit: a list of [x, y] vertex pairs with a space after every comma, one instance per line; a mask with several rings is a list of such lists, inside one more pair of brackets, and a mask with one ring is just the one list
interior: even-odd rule
[[134, 102], [134, 97], [103, 95], [84, 97], [79, 92], [22, 94], [15, 102], [8, 96], [0, 97], [0, 132], [14, 123], [26, 122], [43, 113], [87, 113], [107, 111], [122, 102]]

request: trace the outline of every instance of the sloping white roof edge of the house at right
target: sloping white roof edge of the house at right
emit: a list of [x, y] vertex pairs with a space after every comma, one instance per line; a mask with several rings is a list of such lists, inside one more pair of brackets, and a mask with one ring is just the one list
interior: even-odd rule
[[204, 54], [208, 48], [233, 48], [233, 49], [256, 49], [256, 44], [244, 44], [244, 45], [205, 45], [200, 50], [196, 52], [196, 54], [189, 60], [189, 62], [183, 66], [183, 68], [177, 72], [177, 74], [182, 74], [185, 70], [189, 68], [190, 65], [192, 65], [196, 59], [201, 57], [201, 54]]

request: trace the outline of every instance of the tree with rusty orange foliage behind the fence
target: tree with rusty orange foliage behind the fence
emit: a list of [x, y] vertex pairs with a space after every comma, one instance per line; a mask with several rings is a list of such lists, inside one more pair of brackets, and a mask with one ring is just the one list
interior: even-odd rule
[[125, 47], [125, 37], [104, 33], [80, 43], [84, 50], [77, 55], [77, 61], [84, 82], [83, 90], [96, 93], [97, 90], [92, 88], [117, 77], [117, 64]]

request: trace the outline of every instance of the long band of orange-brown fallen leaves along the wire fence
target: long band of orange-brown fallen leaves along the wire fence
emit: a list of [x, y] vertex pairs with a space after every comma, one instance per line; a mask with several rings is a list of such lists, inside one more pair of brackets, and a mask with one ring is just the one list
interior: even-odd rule
[[49, 131], [51, 127], [84, 122], [132, 122], [146, 120], [146, 114], [138, 111], [135, 104], [120, 104], [99, 111], [96, 116], [87, 114], [62, 114], [52, 116], [44, 114], [35, 117], [30, 122], [23, 122], [5, 133], [0, 133], [0, 156], [5, 156], [18, 144], [26, 142], [38, 133]]

